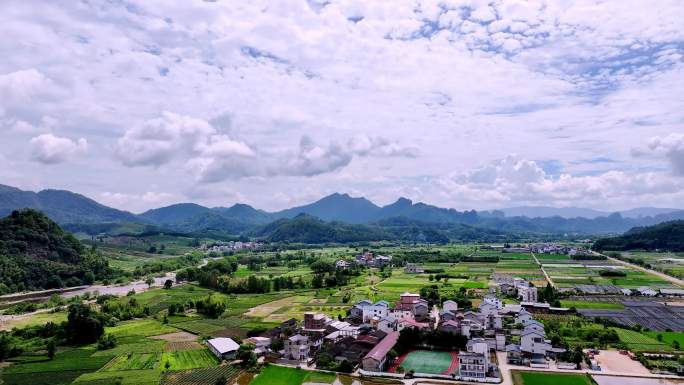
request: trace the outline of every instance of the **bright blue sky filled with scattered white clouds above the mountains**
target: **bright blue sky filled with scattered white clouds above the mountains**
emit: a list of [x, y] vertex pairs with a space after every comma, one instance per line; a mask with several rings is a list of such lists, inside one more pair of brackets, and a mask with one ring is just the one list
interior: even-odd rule
[[0, 2], [0, 184], [684, 208], [684, 2]]

